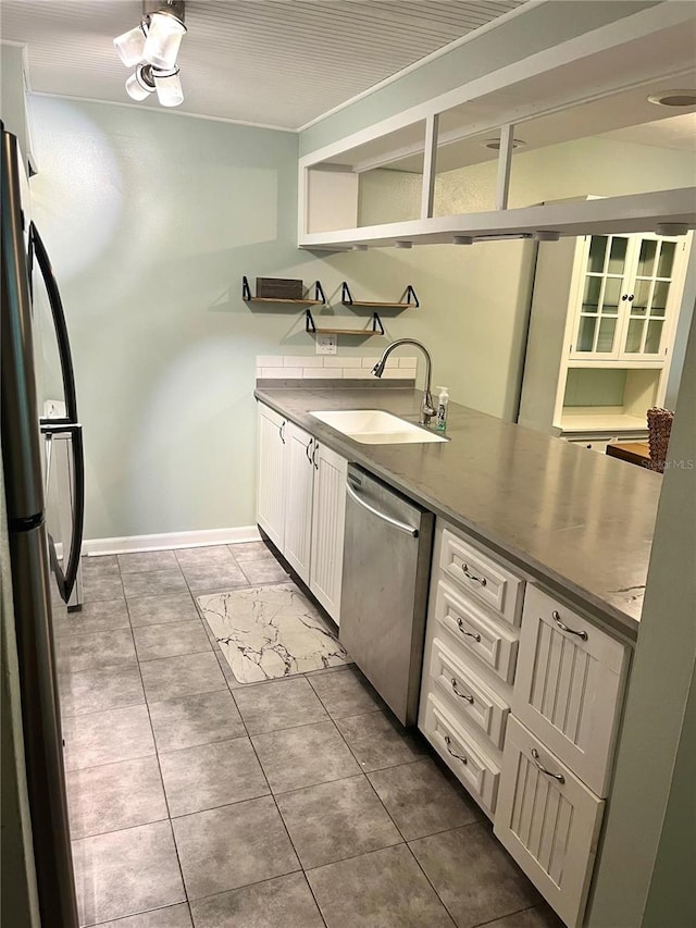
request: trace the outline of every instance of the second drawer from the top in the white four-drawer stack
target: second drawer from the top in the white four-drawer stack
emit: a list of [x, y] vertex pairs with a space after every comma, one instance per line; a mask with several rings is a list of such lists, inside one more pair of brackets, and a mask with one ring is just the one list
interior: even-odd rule
[[442, 580], [437, 584], [435, 620], [500, 679], [512, 681], [518, 654], [514, 634], [498, 626]]

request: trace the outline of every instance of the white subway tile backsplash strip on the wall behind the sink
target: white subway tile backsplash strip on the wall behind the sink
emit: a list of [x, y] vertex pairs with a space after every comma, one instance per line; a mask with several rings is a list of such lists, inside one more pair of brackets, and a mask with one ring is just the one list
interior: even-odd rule
[[[374, 380], [374, 358], [341, 355], [259, 355], [257, 380]], [[417, 358], [388, 358], [382, 380], [414, 380]]]

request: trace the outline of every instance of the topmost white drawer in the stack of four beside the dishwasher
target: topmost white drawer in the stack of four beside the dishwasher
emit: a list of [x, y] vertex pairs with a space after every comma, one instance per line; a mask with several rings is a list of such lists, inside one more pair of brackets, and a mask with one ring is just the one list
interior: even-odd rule
[[524, 582], [506, 567], [445, 529], [439, 566], [455, 583], [506, 622], [520, 623]]

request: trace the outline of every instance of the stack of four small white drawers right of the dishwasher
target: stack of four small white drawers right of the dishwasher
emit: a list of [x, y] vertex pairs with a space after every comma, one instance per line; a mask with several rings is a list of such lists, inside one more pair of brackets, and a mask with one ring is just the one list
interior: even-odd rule
[[515, 672], [524, 580], [438, 520], [419, 728], [494, 817]]

